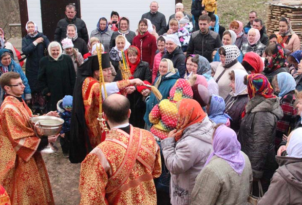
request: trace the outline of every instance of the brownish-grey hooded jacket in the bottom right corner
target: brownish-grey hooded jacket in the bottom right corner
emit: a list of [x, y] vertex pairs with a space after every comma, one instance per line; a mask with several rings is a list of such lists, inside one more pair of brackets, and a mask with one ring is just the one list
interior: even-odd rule
[[302, 159], [276, 156], [280, 167], [258, 205], [301, 205]]

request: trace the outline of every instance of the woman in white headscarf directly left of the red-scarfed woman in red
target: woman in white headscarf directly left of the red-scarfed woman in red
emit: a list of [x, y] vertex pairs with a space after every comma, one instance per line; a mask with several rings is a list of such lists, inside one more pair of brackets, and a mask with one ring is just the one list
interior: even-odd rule
[[117, 75], [115, 77], [116, 81], [122, 80], [122, 74], [121, 74], [121, 70], [119, 68], [120, 61], [122, 62], [122, 66], [123, 66], [122, 51], [125, 52], [129, 48], [130, 45], [131, 45], [130, 42], [127, 41], [125, 36], [119, 35], [115, 38], [115, 46], [111, 49], [111, 51], [109, 53], [110, 61], [114, 66], [115, 72], [117, 73]]

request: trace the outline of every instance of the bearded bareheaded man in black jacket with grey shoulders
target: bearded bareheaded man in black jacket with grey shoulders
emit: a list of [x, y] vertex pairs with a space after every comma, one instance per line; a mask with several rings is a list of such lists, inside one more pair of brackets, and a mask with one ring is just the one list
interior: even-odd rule
[[209, 29], [210, 18], [208, 15], [203, 14], [199, 17], [199, 29], [192, 33], [188, 49], [188, 54], [198, 54], [205, 57], [208, 62], [212, 62], [212, 51], [214, 48], [219, 48], [221, 44], [220, 36], [218, 33]]

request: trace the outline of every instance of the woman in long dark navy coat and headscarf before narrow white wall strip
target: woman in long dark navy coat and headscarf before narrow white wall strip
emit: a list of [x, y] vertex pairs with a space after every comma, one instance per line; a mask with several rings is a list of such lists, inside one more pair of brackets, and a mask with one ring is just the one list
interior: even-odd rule
[[38, 32], [38, 26], [34, 21], [28, 21], [25, 28], [27, 35], [22, 39], [22, 52], [27, 56], [25, 75], [32, 91], [30, 107], [35, 113], [44, 113], [46, 111], [46, 101], [38, 82], [38, 71], [40, 60], [47, 55], [45, 50], [48, 48], [49, 40], [45, 35]]

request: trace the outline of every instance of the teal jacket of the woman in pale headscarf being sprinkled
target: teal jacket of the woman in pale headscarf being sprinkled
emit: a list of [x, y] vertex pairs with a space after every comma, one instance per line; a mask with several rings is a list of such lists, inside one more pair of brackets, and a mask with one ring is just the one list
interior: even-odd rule
[[[162, 80], [161, 80], [161, 82], [160, 82], [160, 84], [159, 84], [159, 86], [157, 88], [159, 90], [159, 92], [163, 96], [162, 100], [167, 99], [169, 97], [171, 88], [173, 87], [173, 85], [175, 84], [175, 82], [177, 81], [177, 79], [179, 79], [179, 78], [180, 78], [180, 76], [179, 76], [179, 72], [178, 71], [176, 73], [171, 73], [171, 72], [167, 73], [166, 75], [164, 75], [162, 77]], [[158, 77], [155, 79], [154, 82], [156, 82], [157, 79], [158, 79]], [[145, 122], [150, 127], [151, 127], [152, 124], [149, 121], [149, 114], [150, 114], [152, 108], [157, 103], [158, 103], [158, 101], [155, 98], [155, 95], [153, 93], [151, 93], [150, 99], [149, 99], [149, 101], [146, 104], [146, 113], [145, 113], [145, 116], [144, 116]]]

